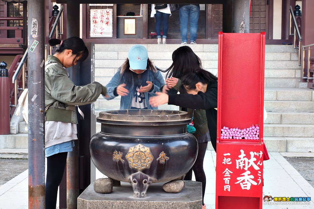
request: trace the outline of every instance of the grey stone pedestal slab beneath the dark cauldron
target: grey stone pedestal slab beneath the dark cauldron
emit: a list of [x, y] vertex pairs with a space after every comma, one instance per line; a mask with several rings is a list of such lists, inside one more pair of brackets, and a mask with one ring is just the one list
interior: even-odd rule
[[146, 198], [134, 198], [129, 183], [113, 187], [109, 194], [94, 191], [93, 182], [78, 197], [78, 209], [119, 208], [119, 209], [199, 209], [202, 208], [202, 183], [184, 181], [185, 187], [179, 193], [167, 193], [164, 183], [149, 186]]

